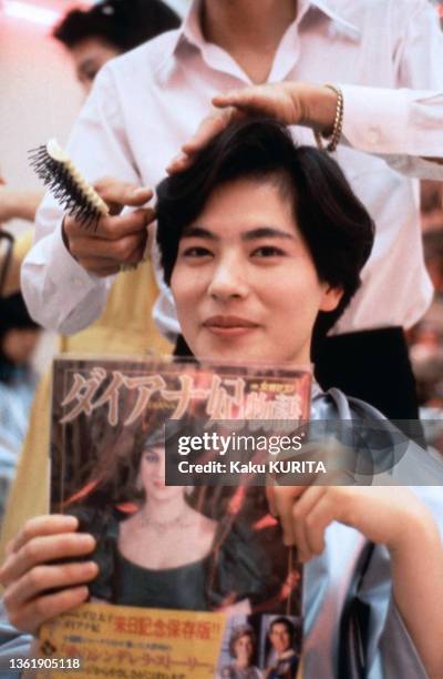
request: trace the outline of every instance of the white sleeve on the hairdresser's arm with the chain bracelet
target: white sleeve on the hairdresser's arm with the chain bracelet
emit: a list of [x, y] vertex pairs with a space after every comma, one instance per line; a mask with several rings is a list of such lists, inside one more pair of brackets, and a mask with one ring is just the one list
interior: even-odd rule
[[[398, 89], [340, 84], [343, 138], [403, 174], [443, 180], [443, 32], [426, 0], [410, 7], [392, 47]], [[406, 8], [401, 3], [403, 12]]]

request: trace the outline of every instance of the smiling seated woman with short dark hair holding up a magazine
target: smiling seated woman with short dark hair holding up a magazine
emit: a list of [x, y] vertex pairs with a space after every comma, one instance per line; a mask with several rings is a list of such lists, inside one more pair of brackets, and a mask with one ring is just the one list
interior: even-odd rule
[[[297, 149], [266, 120], [228, 128], [192, 168], [165, 180], [157, 213], [184, 341], [197, 359], [214, 362], [308, 364], [315, 327], [324, 332], [351, 298], [373, 237], [371, 219], [334, 162]], [[351, 428], [374, 420], [369, 453], [380, 435], [388, 447], [394, 443], [380, 413], [338, 389], [324, 394], [315, 386], [311, 418], [348, 419]], [[406, 453], [414, 483], [442, 478], [442, 465], [424, 450]], [[365, 455], [358, 453], [358, 460]], [[379, 487], [268, 488], [284, 541], [297, 546], [306, 564], [309, 679], [443, 673], [442, 541], [418, 497], [442, 520], [441, 490], [387, 487], [395, 473]], [[12, 541], [0, 579], [18, 629], [34, 632], [86, 600], [96, 566], [69, 561], [91, 555], [94, 541], [76, 530], [72, 517], [39, 517]], [[55, 557], [68, 563], [45, 565]]]

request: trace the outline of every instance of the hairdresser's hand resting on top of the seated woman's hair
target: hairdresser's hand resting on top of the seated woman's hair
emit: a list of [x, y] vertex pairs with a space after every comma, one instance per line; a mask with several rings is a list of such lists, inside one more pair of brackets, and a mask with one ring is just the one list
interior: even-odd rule
[[307, 125], [328, 133], [333, 128], [337, 94], [326, 87], [279, 82], [217, 94], [213, 104], [218, 110], [203, 120], [194, 136], [184, 144], [179, 155], [167, 168], [168, 172], [185, 170], [192, 164], [193, 155], [213, 136], [230, 122], [247, 115], [265, 115], [285, 125]]

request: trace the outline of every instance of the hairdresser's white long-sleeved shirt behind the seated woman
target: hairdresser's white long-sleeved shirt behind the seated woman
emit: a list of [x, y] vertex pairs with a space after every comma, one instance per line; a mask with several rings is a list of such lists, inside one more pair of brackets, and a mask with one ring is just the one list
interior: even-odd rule
[[[276, 52], [270, 82], [332, 82], [344, 97], [343, 143], [334, 154], [377, 224], [363, 285], [332, 333], [410, 327], [425, 312], [418, 181], [443, 180], [443, 36], [427, 0], [302, 0]], [[69, 151], [89, 181], [115, 176], [155, 186], [220, 91], [250, 84], [223, 49], [205, 42], [195, 2], [177, 31], [104, 67], [71, 134]], [[293, 126], [300, 143], [311, 130]], [[22, 266], [30, 312], [74, 333], [101, 314], [113, 277], [85, 272], [61, 239], [61, 209], [40, 207]], [[155, 317], [178, 332], [162, 282]]]

